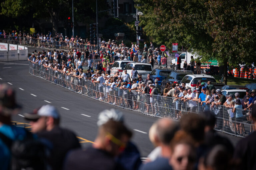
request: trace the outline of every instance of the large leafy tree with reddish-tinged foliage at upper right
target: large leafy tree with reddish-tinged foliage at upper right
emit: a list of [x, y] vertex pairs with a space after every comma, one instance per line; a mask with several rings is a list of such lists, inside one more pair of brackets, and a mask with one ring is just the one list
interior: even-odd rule
[[227, 62], [238, 67], [241, 62], [251, 64], [255, 58], [256, 1], [135, 1], [143, 12], [141, 26], [159, 45], [171, 48], [178, 42], [201, 55], [203, 61], [217, 59], [224, 66], [224, 74]]

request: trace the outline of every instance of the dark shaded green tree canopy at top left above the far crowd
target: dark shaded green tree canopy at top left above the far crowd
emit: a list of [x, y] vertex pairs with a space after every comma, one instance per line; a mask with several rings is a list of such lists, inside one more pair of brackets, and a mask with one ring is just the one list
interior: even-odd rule
[[[98, 0], [98, 9], [109, 8], [106, 0]], [[1, 15], [17, 18], [32, 13], [33, 18], [50, 18], [53, 32], [58, 32], [58, 23], [72, 16], [72, 0], [3, 0]], [[100, 16], [106, 15], [101, 13]], [[96, 1], [74, 1], [75, 22], [92, 21], [96, 18]]]

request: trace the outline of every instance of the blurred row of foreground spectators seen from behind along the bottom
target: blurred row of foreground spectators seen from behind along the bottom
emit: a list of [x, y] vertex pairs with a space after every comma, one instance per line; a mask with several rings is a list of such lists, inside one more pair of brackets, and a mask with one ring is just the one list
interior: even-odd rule
[[[252, 104], [254, 126], [255, 106]], [[31, 131], [12, 125], [11, 116], [20, 108], [14, 90], [0, 84], [2, 170], [239, 170], [256, 167], [256, 132], [234, 147], [228, 138], [214, 130], [216, 117], [211, 112], [189, 113], [180, 122], [166, 118], [157, 120], [149, 129], [149, 139], [155, 149], [142, 162], [131, 140], [132, 131], [119, 110], [99, 113], [94, 143], [82, 149], [75, 133], [59, 126], [60, 114], [54, 106], [44, 105], [24, 114], [30, 121]]]

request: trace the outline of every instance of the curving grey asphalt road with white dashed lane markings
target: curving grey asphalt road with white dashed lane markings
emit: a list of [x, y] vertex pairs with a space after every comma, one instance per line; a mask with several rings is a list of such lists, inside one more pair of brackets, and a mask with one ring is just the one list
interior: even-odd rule
[[[22, 114], [32, 112], [42, 105], [51, 104], [61, 114], [61, 126], [72, 129], [83, 147], [91, 145], [97, 135], [98, 113], [115, 107], [34, 77], [28, 73], [28, 70], [28, 61], [0, 62], [0, 83], [11, 85], [16, 91], [18, 103], [23, 106], [19, 115], [13, 116], [13, 121], [17, 122], [18, 126], [29, 128], [29, 122], [22, 117]], [[116, 109], [120, 108], [116, 107]], [[120, 110], [124, 113], [126, 125], [133, 131], [132, 141], [138, 146], [141, 156], [147, 156], [154, 148], [148, 138], [148, 130], [157, 118], [125, 109]], [[234, 145], [240, 140], [225, 133], [219, 134], [228, 137]]]

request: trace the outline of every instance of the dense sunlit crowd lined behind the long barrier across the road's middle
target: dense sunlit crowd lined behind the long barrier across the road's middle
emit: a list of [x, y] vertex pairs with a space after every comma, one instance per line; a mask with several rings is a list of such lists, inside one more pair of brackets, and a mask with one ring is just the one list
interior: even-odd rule
[[[133, 75], [129, 75], [127, 70], [122, 74], [116, 71], [114, 75], [110, 75], [112, 56], [109, 53], [111, 52], [107, 50], [98, 54], [97, 51], [88, 49], [82, 53], [79, 49], [69, 53], [58, 50], [52, 52], [48, 50], [46, 53], [43, 50], [35, 51], [28, 60], [32, 64], [32, 74], [109, 104], [139, 110], [139, 102], [141, 102], [144, 103], [143, 110], [140, 109], [143, 113], [152, 116], [169, 116], [175, 120], [179, 120], [187, 112], [212, 111], [219, 118], [217, 129], [236, 135], [246, 135], [244, 120], [247, 124], [251, 124], [252, 120], [250, 112], [243, 109], [254, 102], [252, 99], [255, 97], [255, 90], [250, 94], [247, 91], [247, 95], [240, 99], [239, 93], [234, 96], [224, 96], [210, 81], [204, 83], [201, 80], [198, 81], [195, 91], [186, 87], [185, 83], [181, 85], [167, 83], [161, 90], [157, 79], [153, 81], [148, 74], [143, 80], [135, 68], [132, 71]], [[83, 66], [88, 69], [83, 70]], [[235, 104], [232, 105], [232, 102]], [[229, 122], [233, 123], [229, 124]], [[250, 128], [249, 133], [252, 130]]]

